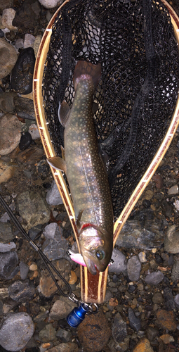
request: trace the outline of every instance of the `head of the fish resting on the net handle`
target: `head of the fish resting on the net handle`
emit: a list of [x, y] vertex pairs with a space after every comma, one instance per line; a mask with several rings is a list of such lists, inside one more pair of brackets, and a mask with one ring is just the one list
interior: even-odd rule
[[112, 236], [107, 231], [95, 225], [82, 228], [79, 233], [79, 246], [86, 266], [92, 275], [105, 271], [112, 256]]

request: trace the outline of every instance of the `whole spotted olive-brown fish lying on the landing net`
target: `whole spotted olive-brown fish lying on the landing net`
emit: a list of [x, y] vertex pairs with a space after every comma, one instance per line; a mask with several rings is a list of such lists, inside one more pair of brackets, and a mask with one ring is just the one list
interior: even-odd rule
[[105, 271], [113, 249], [112, 197], [92, 109], [93, 94], [100, 77], [100, 63], [77, 62], [72, 108], [70, 110], [67, 102], [62, 101], [58, 109], [60, 123], [65, 127], [65, 156], [47, 159], [53, 168], [62, 170], [67, 176], [81, 255], [92, 275], [96, 274], [96, 268]]

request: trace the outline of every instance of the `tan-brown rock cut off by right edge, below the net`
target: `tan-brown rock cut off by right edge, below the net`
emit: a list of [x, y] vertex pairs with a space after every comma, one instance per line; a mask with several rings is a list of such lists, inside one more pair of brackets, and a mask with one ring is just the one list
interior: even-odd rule
[[179, 253], [179, 232], [175, 231], [175, 225], [168, 227], [164, 240], [164, 250], [168, 253]]

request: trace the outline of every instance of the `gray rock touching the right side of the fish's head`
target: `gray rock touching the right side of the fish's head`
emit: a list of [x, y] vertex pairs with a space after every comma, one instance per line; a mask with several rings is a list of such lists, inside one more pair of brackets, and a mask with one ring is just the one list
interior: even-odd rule
[[126, 256], [124, 256], [119, 249], [114, 248], [112, 251], [112, 259], [114, 260], [114, 263], [109, 266], [109, 272], [116, 272], [117, 274], [123, 272], [125, 275], [127, 269]]

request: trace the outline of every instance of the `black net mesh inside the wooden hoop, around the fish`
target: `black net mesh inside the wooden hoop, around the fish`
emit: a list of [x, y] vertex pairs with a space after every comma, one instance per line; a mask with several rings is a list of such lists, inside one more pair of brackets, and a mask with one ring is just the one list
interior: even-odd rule
[[58, 103], [72, 106], [74, 67], [100, 62], [93, 100], [100, 149], [110, 161], [114, 219], [150, 165], [178, 96], [178, 46], [164, 4], [149, 0], [71, 0], [53, 23], [44, 69], [44, 107], [56, 155]]

